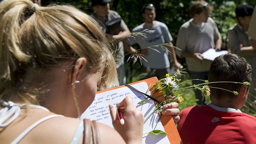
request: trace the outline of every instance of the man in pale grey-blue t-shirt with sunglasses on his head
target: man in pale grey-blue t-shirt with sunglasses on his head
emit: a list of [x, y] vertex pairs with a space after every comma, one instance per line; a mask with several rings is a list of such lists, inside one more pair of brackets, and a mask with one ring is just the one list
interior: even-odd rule
[[[146, 78], [156, 76], [158, 79], [165, 77], [166, 74], [170, 73], [170, 60], [169, 55], [172, 58], [173, 66], [175, 68], [180, 67], [180, 63], [176, 59], [176, 54], [173, 47], [167, 46], [166, 48], [170, 51], [168, 52], [165, 49], [160, 49], [158, 47], [146, 48], [149, 46], [159, 45], [159, 44], [172, 44], [172, 36], [169, 32], [167, 26], [159, 21], [156, 21], [156, 9], [153, 4], [146, 4], [143, 6], [142, 17], [145, 22], [141, 25], [132, 29], [132, 32], [141, 32], [143, 30], [153, 30], [153, 33], [145, 33], [147, 38], [136, 37], [130, 38], [124, 42], [124, 50], [126, 52], [131, 52], [131, 54], [136, 53], [137, 51], [131, 46], [133, 44], [139, 44], [142, 50], [139, 51], [139, 54], [143, 54], [145, 60], [141, 60], [144, 71], [147, 72]], [[147, 60], [147, 61], [146, 61]], [[148, 72], [149, 70], [149, 72]]]

